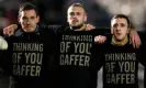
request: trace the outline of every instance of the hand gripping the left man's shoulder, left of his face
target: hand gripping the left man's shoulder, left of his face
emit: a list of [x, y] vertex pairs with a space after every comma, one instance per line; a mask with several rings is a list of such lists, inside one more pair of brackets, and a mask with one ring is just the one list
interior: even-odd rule
[[4, 35], [13, 35], [14, 34], [14, 31], [18, 29], [18, 25], [16, 24], [11, 24], [7, 28], [3, 29], [3, 34]]

